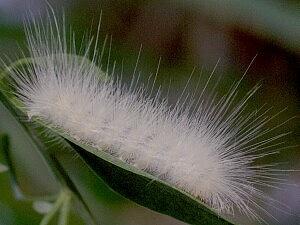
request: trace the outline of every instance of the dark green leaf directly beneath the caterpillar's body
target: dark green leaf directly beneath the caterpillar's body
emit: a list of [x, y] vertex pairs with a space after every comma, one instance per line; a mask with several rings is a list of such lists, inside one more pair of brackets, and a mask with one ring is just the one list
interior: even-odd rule
[[[176, 187], [61, 134], [112, 189], [128, 199], [190, 224], [231, 224]], [[96, 157], [95, 157], [96, 156]]]

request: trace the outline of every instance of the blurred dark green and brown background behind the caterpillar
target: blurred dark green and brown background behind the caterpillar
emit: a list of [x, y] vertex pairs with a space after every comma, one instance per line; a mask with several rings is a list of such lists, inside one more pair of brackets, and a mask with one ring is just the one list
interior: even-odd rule
[[[213, 70], [218, 59], [215, 76], [222, 76], [218, 87], [220, 94], [233, 80], [239, 79], [257, 55], [242, 87], [246, 92], [262, 83], [259, 94], [252, 101], [252, 108], [263, 104], [274, 107], [274, 112], [287, 107], [274, 124], [296, 116], [281, 128], [292, 131], [287, 145], [299, 144], [299, 59], [300, 59], [300, 2], [297, 0], [174, 0], [174, 1], [49, 1], [57, 14], [64, 12], [67, 24], [71, 24], [80, 40], [86, 32], [96, 33], [101, 18], [101, 35], [112, 37], [111, 61], [118, 68], [124, 65], [130, 75], [142, 45], [138, 69], [147, 79], [155, 73], [159, 58], [161, 65], [157, 86], [167, 89], [171, 80], [170, 99], [176, 99], [194, 67], [192, 79], [203, 79]], [[28, 12], [34, 16], [45, 15], [47, 5], [43, 0], [0, 0], [0, 54], [17, 58], [21, 50], [26, 54], [26, 40], [22, 21]], [[106, 56], [108, 51], [106, 51]], [[105, 58], [105, 57], [104, 57]], [[104, 62], [105, 64], [105, 62]], [[0, 128], [4, 113], [0, 114]], [[279, 121], [279, 122], [278, 122]], [[0, 130], [1, 131], [1, 130]], [[3, 161], [1, 156], [0, 162]], [[32, 158], [23, 160], [37, 166]], [[276, 160], [286, 162], [285, 169], [300, 169], [298, 147], [286, 149]], [[30, 161], [32, 160], [32, 161]], [[36, 174], [39, 176], [39, 174]], [[22, 175], [20, 175], [22, 176]], [[23, 175], [24, 183], [30, 180]], [[300, 185], [299, 172], [290, 173], [288, 182]], [[273, 191], [272, 196], [286, 203], [291, 214], [274, 211], [278, 224], [300, 224], [299, 186], [284, 187]], [[182, 224], [169, 217], [139, 208], [124, 206], [123, 224]], [[267, 207], [267, 206], [266, 206]], [[272, 212], [272, 208], [268, 209]], [[124, 214], [124, 215], [123, 215]], [[107, 216], [107, 215], [103, 215]], [[109, 216], [108, 216], [109, 217]], [[70, 224], [82, 224], [75, 215]], [[32, 202], [17, 201], [10, 188], [9, 173], [0, 174], [0, 224], [38, 224], [41, 215], [32, 208]], [[127, 222], [126, 222], [127, 221]], [[244, 221], [241, 218], [241, 221]], [[246, 220], [245, 220], [246, 221]], [[249, 224], [253, 224], [250, 222]], [[274, 221], [270, 222], [271, 224]], [[246, 222], [245, 222], [246, 224]]]

